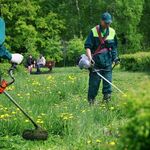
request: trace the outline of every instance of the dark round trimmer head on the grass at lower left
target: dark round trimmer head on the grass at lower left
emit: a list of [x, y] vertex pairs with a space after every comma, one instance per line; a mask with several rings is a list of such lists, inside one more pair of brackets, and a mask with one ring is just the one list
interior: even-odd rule
[[26, 140], [47, 140], [48, 139], [48, 132], [46, 130], [43, 130], [41, 128], [37, 128], [34, 130], [25, 130], [22, 133], [22, 137]]

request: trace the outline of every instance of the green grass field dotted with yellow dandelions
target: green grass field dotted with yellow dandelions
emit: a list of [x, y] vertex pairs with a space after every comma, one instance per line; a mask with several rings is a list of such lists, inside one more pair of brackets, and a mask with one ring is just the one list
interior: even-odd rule
[[[89, 107], [86, 97], [88, 72], [75, 67], [54, 68], [50, 74], [17, 73], [8, 92], [49, 132], [47, 141], [22, 139], [33, 125], [3, 95], [0, 95], [0, 149], [4, 150], [107, 150], [115, 149], [119, 128], [127, 117], [120, 105], [124, 97], [115, 89], [112, 101]], [[149, 80], [146, 73], [115, 69], [113, 83], [127, 94]], [[101, 101], [101, 89], [97, 101]]]

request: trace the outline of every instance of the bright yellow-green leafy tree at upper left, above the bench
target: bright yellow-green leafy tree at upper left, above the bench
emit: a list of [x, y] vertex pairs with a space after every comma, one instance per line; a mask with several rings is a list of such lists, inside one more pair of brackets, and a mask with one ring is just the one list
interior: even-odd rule
[[60, 61], [60, 35], [65, 29], [64, 21], [49, 10], [43, 14], [40, 2], [33, 0], [3, 2], [3, 17], [6, 21], [6, 45], [12, 51], [39, 53]]

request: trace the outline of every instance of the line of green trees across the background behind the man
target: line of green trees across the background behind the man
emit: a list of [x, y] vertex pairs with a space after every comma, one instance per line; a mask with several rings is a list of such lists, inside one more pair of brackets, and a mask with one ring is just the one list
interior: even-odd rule
[[39, 53], [59, 65], [73, 65], [84, 53], [84, 41], [100, 15], [113, 16], [119, 53], [148, 51], [148, 0], [0, 0], [6, 21], [6, 46], [35, 57]]

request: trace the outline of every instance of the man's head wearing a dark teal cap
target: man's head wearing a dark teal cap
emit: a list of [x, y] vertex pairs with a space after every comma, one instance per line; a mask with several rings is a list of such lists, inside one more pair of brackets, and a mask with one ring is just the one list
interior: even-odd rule
[[105, 12], [101, 16], [101, 26], [105, 29], [112, 23], [112, 17], [108, 12]]

